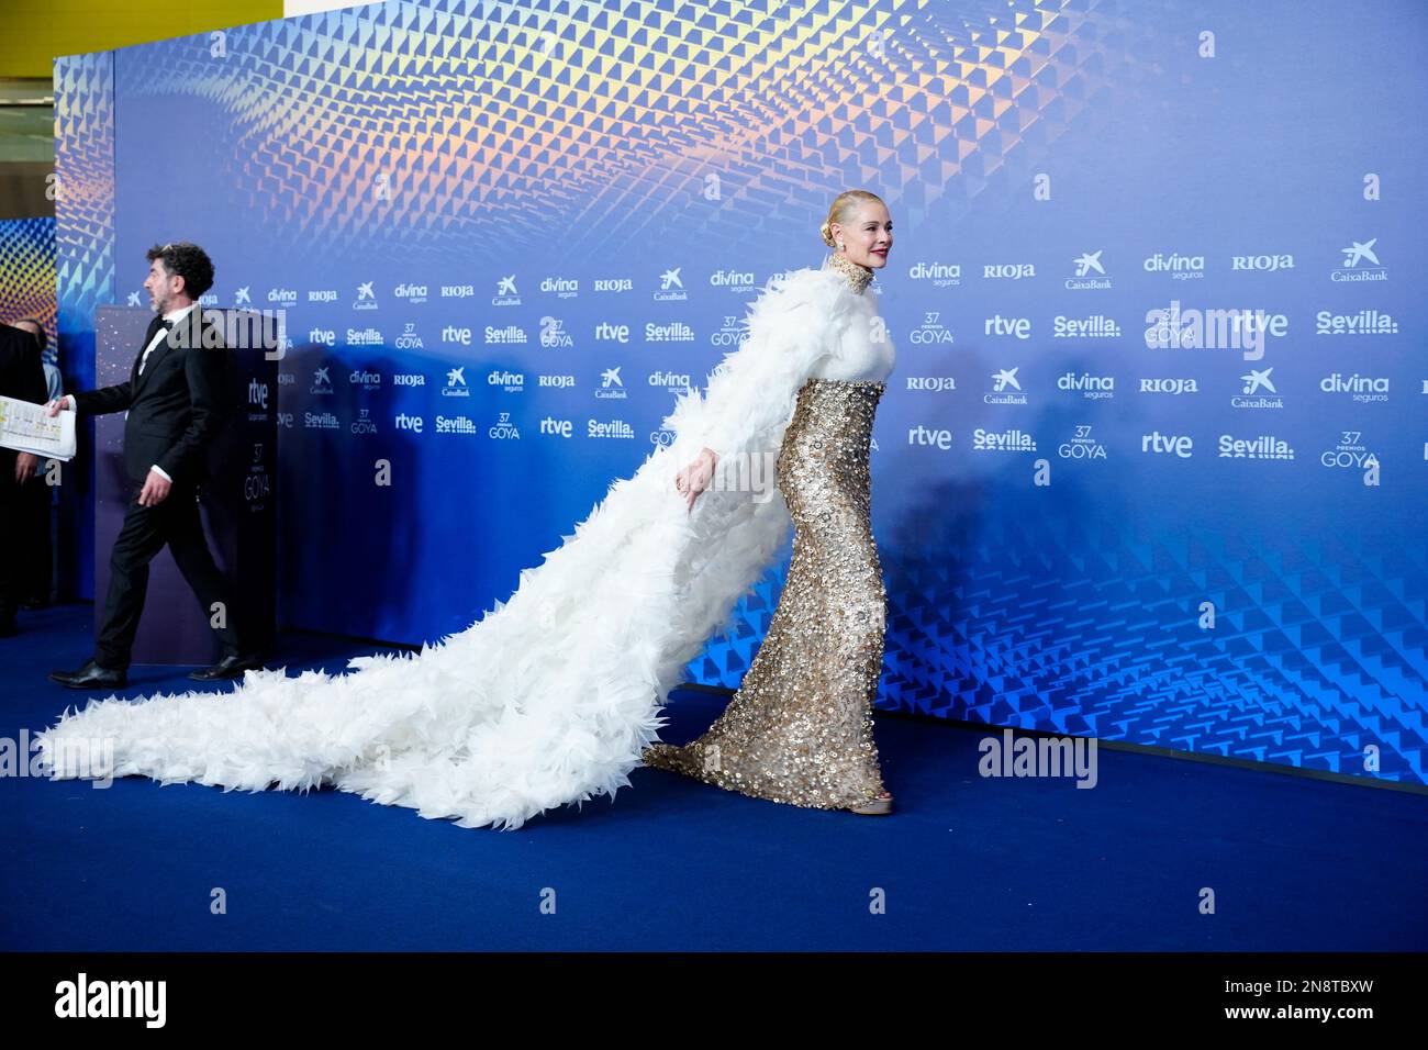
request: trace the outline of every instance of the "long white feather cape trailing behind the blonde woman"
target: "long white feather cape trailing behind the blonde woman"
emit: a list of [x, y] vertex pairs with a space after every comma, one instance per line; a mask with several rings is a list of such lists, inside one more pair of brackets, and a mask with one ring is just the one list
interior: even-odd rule
[[[353, 659], [340, 674], [248, 671], [230, 693], [96, 700], [40, 736], [41, 761], [61, 779], [333, 784], [463, 827], [520, 827], [614, 796], [657, 739], [684, 667], [728, 626], [790, 524], [777, 489], [705, 491], [690, 514], [675, 473], [704, 446], [721, 476], [740, 454], [775, 453], [854, 306], [827, 267], [765, 284], [707, 396], [685, 391], [665, 419], [675, 440], [614, 481], [467, 630], [420, 654]], [[103, 754], [110, 770], [94, 764]]]

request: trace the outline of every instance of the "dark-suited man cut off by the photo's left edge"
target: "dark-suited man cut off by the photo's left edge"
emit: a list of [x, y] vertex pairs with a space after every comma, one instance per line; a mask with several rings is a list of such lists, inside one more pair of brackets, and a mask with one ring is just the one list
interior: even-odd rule
[[[39, 340], [23, 327], [0, 324], [0, 396], [44, 404], [47, 393]], [[24, 484], [39, 466], [37, 456], [0, 449], [0, 639], [16, 633], [27, 557]]]

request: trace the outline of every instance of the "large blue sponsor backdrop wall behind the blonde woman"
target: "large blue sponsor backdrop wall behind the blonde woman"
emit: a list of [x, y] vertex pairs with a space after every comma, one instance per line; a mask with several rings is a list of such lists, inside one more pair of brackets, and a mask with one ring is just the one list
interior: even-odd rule
[[448, 0], [63, 59], [63, 344], [204, 244], [214, 303], [286, 313], [283, 620], [436, 639], [873, 189], [881, 703], [1422, 783], [1425, 23]]

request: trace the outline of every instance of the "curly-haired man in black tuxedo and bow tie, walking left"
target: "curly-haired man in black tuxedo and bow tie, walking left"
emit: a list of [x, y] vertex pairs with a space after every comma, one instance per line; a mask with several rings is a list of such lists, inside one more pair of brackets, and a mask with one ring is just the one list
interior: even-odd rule
[[[144, 290], [157, 317], [149, 326], [129, 381], [50, 403], [50, 414], [127, 410], [124, 467], [139, 491], [114, 540], [94, 657], [77, 671], [50, 674], [70, 689], [113, 689], [127, 683], [130, 650], [149, 587], [149, 563], [164, 544], [198, 596], [204, 616], [220, 624], [213, 630], [223, 643], [223, 659], [188, 677], [213, 681], [261, 667], [257, 654], [244, 649], [228, 586], [208, 553], [198, 516], [208, 444], [223, 424], [226, 409], [227, 351], [217, 333], [206, 330], [197, 306], [198, 297], [213, 287], [213, 263], [201, 247], [183, 241], [154, 246], [147, 259]], [[221, 614], [214, 616], [220, 604]]]

